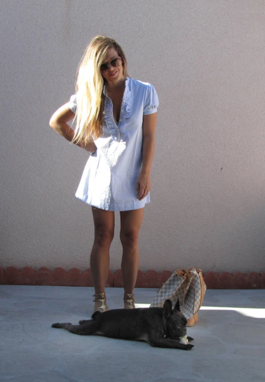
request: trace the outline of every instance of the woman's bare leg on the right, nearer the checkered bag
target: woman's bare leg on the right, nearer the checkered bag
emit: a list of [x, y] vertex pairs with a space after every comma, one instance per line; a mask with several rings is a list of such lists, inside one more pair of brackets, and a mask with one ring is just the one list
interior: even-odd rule
[[121, 272], [124, 293], [133, 293], [139, 266], [138, 236], [144, 209], [120, 212], [120, 241], [122, 244]]

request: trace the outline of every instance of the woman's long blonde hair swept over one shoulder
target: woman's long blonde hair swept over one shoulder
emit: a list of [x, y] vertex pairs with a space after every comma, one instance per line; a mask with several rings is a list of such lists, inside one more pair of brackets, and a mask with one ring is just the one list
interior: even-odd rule
[[76, 84], [77, 112], [73, 142], [91, 141], [100, 136], [103, 124], [105, 79], [101, 76], [100, 65], [106, 52], [114, 48], [122, 59], [123, 74], [127, 77], [127, 62], [120, 45], [105, 36], [96, 36], [89, 43], [79, 64]]

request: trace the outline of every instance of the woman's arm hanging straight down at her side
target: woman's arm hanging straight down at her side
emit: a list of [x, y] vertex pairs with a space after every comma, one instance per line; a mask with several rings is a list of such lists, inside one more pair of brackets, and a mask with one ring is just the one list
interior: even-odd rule
[[142, 170], [136, 182], [136, 192], [139, 200], [145, 198], [151, 188], [150, 173], [155, 151], [156, 125], [157, 113], [144, 116]]

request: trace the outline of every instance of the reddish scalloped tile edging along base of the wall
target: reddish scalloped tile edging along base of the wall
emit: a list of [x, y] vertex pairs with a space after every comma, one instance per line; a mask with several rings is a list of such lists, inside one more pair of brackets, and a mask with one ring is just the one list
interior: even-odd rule
[[[137, 288], [161, 288], [163, 283], [171, 276], [170, 270], [161, 273], [156, 270], [143, 272], [138, 270], [136, 280]], [[265, 272], [221, 272], [208, 271], [203, 274], [208, 289], [265, 289]], [[61, 285], [61, 286], [93, 286], [90, 269], [81, 271], [72, 268], [66, 271], [62, 267], [51, 271], [43, 266], [35, 270], [32, 266], [18, 269], [16, 266], [8, 266], [6, 269], [0, 266], [0, 284], [8, 285]], [[121, 270], [114, 273], [110, 270], [106, 286], [122, 287]]]

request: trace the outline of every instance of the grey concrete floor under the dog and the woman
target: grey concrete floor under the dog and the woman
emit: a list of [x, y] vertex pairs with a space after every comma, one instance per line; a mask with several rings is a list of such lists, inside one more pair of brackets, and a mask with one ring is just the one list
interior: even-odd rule
[[[136, 289], [148, 306], [156, 289]], [[123, 291], [107, 288], [110, 308]], [[207, 290], [191, 351], [51, 328], [92, 313], [93, 288], [0, 285], [0, 381], [264, 382], [265, 290]], [[146, 305], [145, 305], [146, 304]]]

